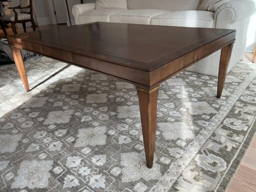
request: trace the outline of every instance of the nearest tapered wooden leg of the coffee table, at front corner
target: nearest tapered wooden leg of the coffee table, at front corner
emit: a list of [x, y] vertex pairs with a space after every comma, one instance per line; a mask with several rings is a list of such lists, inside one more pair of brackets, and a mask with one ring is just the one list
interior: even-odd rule
[[160, 86], [148, 91], [137, 87], [147, 167], [152, 168], [156, 140], [157, 96]]

